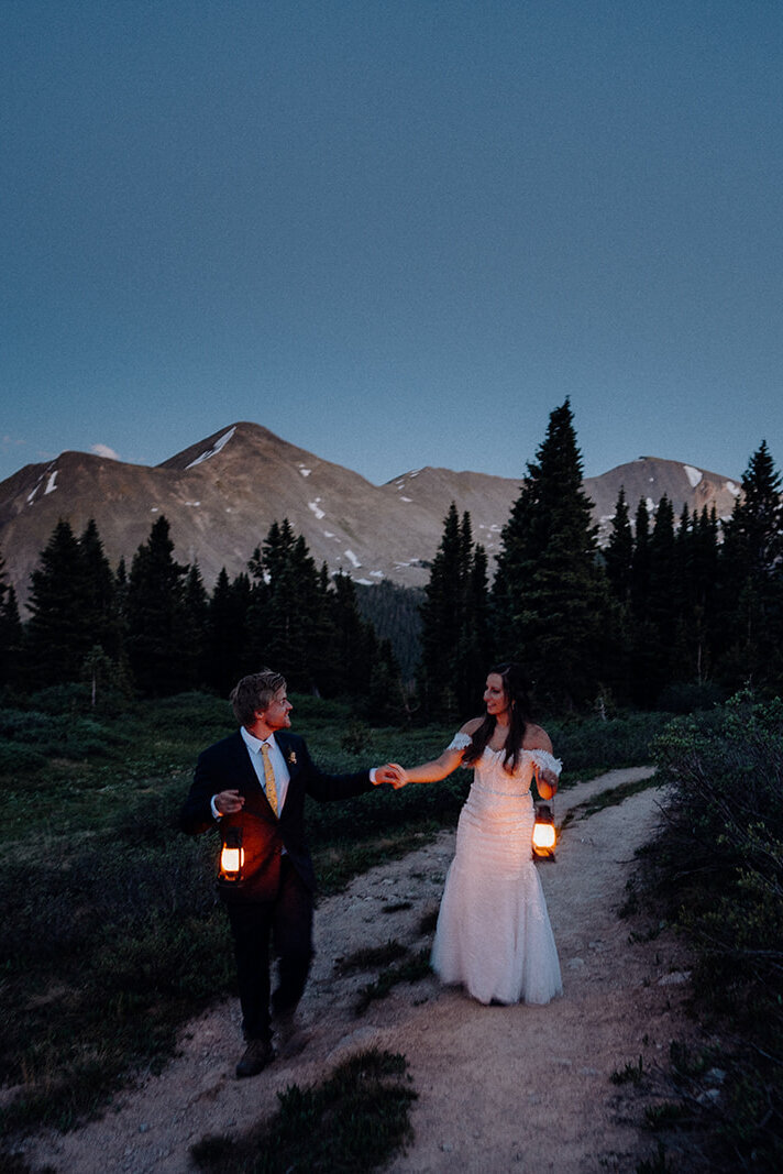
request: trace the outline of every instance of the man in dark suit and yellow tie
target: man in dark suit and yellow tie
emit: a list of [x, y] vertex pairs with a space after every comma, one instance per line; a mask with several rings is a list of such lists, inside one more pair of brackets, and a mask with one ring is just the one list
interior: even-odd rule
[[[239, 829], [244, 861], [234, 882], [220, 882], [234, 936], [245, 1052], [237, 1077], [252, 1077], [275, 1059], [271, 1019], [279, 1046], [295, 1054], [306, 1044], [295, 1012], [312, 959], [316, 878], [304, 830], [305, 795], [324, 802], [350, 798], [392, 782], [390, 767], [326, 775], [304, 740], [290, 734], [291, 702], [279, 673], [243, 677], [231, 693], [239, 729], [200, 755], [181, 815], [183, 831], [217, 826], [225, 843]], [[278, 958], [271, 994], [270, 938]]]

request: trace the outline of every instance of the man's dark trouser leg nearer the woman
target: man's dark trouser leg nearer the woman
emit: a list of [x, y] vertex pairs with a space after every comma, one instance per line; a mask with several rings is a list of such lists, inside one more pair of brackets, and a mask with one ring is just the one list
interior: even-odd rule
[[312, 962], [312, 893], [284, 856], [281, 888], [272, 912], [272, 943], [278, 984], [272, 994], [276, 1016], [296, 1010]]

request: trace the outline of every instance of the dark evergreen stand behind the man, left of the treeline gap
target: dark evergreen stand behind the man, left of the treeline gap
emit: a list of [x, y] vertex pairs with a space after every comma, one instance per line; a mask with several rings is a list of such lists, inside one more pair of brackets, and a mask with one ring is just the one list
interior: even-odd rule
[[245, 571], [230, 579], [223, 568], [208, 592], [197, 565], [175, 560], [163, 515], [130, 569], [121, 560], [115, 572], [95, 521], [76, 535], [61, 519], [27, 607], [22, 623], [0, 566], [6, 695], [82, 681], [94, 697], [227, 696], [242, 675], [270, 664], [291, 689], [355, 697], [373, 720], [394, 721], [406, 703], [391, 642], [362, 616], [352, 580], [318, 568], [288, 520], [272, 522]]

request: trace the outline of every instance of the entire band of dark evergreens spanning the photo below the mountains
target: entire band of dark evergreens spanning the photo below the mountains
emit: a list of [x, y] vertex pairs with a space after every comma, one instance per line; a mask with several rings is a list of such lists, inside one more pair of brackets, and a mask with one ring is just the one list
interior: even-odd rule
[[452, 502], [423, 592], [330, 575], [288, 519], [211, 592], [197, 565], [174, 559], [164, 517], [116, 571], [94, 521], [76, 535], [61, 520], [31, 576], [26, 622], [0, 559], [0, 688], [82, 680], [94, 697], [227, 695], [270, 664], [293, 690], [351, 697], [390, 722], [475, 713], [500, 660], [527, 667], [548, 711], [689, 708], [748, 683], [778, 690], [783, 506], [767, 443], [729, 519], [687, 506], [675, 518], [663, 497], [653, 511], [641, 500], [632, 520], [621, 490], [603, 549], [582, 479], [566, 400], [527, 465], [492, 581], [470, 513]]

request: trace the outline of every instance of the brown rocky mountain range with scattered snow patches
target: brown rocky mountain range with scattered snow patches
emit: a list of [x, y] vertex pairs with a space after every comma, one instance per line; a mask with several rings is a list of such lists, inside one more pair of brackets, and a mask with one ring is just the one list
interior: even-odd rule
[[[81, 452], [25, 466], [0, 484], [0, 552], [25, 600], [60, 518], [76, 534], [94, 518], [112, 564], [124, 556], [129, 566], [164, 514], [175, 556], [197, 562], [211, 587], [223, 566], [230, 575], [243, 571], [272, 521], [288, 518], [331, 571], [367, 583], [423, 585], [452, 501], [470, 511], [475, 540], [497, 554], [524, 472], [517, 480], [427, 467], [377, 486], [258, 424], [238, 423], [155, 467]], [[691, 510], [714, 502], [727, 517], [738, 493], [725, 477], [643, 457], [585, 481], [605, 532], [621, 485], [632, 517], [640, 498], [656, 505], [663, 493], [677, 513], [683, 502]]]

